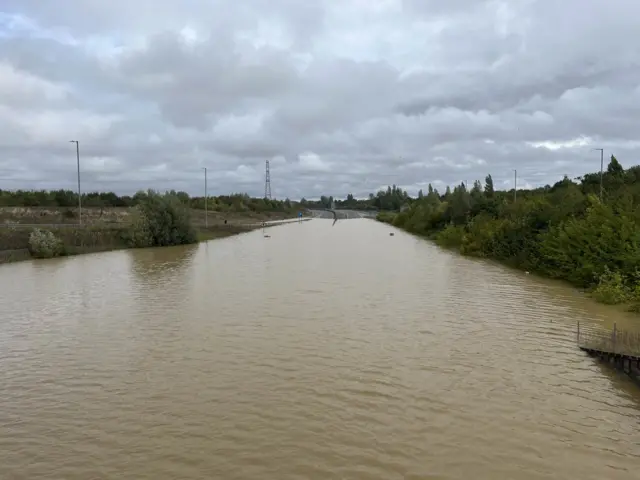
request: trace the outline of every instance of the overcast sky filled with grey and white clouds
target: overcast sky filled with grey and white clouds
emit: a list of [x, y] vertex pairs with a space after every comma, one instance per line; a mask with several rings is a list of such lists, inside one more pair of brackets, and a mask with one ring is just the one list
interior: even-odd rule
[[1, 0], [0, 188], [299, 199], [640, 163], [637, 0]]

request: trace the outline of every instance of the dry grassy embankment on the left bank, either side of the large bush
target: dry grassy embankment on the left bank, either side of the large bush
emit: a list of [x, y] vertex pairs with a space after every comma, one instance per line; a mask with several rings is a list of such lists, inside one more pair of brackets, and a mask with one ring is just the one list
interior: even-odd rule
[[[59, 255], [77, 255], [131, 248], [130, 230], [135, 209], [130, 207], [83, 208], [83, 226], [78, 225], [77, 210], [59, 207], [0, 208], [0, 223], [25, 226], [0, 227], [0, 263], [32, 258], [29, 244], [36, 225], [59, 239]], [[209, 212], [205, 227], [205, 212], [189, 209], [189, 223], [197, 241], [228, 237], [259, 228], [263, 221], [284, 220], [297, 216], [288, 212]], [[226, 223], [225, 223], [226, 220]], [[29, 226], [26, 226], [29, 225]], [[34, 226], [31, 226], [34, 225]]]

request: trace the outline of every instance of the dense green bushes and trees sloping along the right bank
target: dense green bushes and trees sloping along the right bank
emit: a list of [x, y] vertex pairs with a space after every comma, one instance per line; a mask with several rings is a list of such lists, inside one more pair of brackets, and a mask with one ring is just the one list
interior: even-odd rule
[[496, 191], [491, 175], [444, 195], [429, 186], [406, 210], [378, 220], [640, 311], [640, 166], [625, 171], [611, 156], [602, 198], [599, 172], [575, 180], [517, 193]]

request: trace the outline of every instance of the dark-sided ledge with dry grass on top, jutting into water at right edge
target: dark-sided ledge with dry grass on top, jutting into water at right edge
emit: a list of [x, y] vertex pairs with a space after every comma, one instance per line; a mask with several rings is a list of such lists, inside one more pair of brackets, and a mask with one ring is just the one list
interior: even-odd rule
[[577, 342], [580, 350], [640, 382], [640, 332], [618, 330], [615, 323], [607, 330], [578, 322]]

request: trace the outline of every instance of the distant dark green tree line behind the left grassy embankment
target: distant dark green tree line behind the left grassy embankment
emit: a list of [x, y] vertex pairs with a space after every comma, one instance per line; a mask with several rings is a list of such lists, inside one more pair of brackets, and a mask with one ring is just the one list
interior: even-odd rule
[[[192, 197], [186, 192], [171, 190], [168, 195], [177, 198], [189, 208], [204, 209], [205, 199]], [[113, 192], [88, 192], [82, 194], [85, 207], [135, 207], [148, 197], [148, 192], [139, 191], [135, 195], [117, 195]], [[78, 194], [72, 190], [2, 190], [0, 189], [0, 207], [60, 207], [74, 208], [78, 205]], [[296, 202], [288, 198], [274, 200], [252, 198], [247, 194], [210, 196], [207, 208], [219, 212], [286, 212], [297, 208]]]

